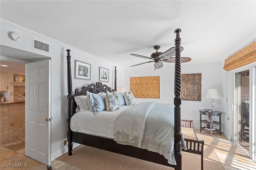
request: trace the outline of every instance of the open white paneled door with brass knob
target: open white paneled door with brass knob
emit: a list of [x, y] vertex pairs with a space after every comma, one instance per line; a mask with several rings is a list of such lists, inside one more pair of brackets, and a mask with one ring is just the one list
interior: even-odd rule
[[51, 160], [51, 61], [25, 65], [25, 153], [50, 166]]

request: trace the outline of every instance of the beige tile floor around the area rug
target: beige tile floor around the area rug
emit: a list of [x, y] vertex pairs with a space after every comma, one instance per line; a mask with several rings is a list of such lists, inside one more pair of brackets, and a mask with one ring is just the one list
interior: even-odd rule
[[[224, 166], [225, 170], [255, 170], [256, 163], [253, 162], [239, 147], [237, 147], [232, 141], [228, 141], [224, 135], [210, 134], [207, 131], [195, 129], [196, 135], [199, 140], [209, 140], [210, 145], [217, 154], [220, 162]], [[25, 148], [8, 149], [8, 146], [24, 141], [24, 137], [12, 141], [12, 143], [6, 143], [0, 147], [0, 169], [1, 170], [46, 170], [46, 165], [25, 156]], [[10, 147], [9, 147], [10, 148]], [[19, 149], [19, 150], [18, 150]], [[205, 156], [204, 156], [205, 157]], [[2, 167], [2, 163], [23, 163], [23, 168], [6, 168]], [[53, 170], [79, 170], [74, 166], [66, 164], [62, 161], [54, 159], [51, 162]]]

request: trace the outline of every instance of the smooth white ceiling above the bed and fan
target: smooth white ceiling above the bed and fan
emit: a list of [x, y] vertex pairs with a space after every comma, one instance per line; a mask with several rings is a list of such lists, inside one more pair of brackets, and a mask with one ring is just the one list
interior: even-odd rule
[[130, 53], [150, 57], [154, 45], [174, 47], [176, 28], [191, 63], [223, 61], [256, 39], [255, 0], [0, 3], [2, 19], [125, 68], [149, 61]]

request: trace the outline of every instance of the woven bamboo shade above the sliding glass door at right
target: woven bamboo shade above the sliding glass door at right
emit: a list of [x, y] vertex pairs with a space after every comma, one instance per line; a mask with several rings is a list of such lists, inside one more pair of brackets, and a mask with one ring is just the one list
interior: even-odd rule
[[256, 41], [228, 57], [223, 68], [230, 71], [254, 62], [256, 62]]

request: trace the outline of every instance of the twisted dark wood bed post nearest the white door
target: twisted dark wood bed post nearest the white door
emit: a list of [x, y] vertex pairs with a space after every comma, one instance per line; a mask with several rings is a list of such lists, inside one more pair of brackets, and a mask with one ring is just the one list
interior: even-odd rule
[[73, 113], [73, 96], [72, 96], [72, 74], [71, 74], [71, 56], [70, 49], [66, 50], [68, 52], [67, 55], [67, 64], [68, 64], [68, 155], [72, 155], [72, 131], [70, 129], [70, 119]]

